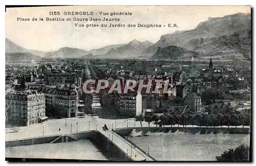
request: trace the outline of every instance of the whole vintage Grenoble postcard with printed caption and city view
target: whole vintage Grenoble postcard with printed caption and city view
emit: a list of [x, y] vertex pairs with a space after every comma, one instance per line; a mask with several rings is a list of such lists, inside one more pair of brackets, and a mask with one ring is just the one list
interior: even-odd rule
[[5, 155], [249, 161], [250, 6], [6, 8]]

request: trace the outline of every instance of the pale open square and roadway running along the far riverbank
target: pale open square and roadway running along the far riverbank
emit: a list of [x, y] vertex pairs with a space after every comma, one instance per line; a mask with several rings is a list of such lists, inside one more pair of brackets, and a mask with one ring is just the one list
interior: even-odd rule
[[[42, 124], [39, 123], [31, 126], [15, 127], [20, 130], [14, 133], [6, 133], [5, 135], [6, 135], [6, 140], [25, 139], [29, 137], [36, 137], [36, 136], [43, 136], [43, 135], [67, 134], [70, 132], [88, 131], [92, 129], [98, 130], [98, 129], [102, 129], [104, 124], [106, 124], [110, 130], [112, 128], [141, 127], [140, 122], [135, 122], [134, 118], [128, 119], [127, 121], [126, 119], [117, 119], [117, 120], [100, 119], [97, 116], [94, 116], [94, 119], [93, 119], [90, 116], [90, 117], [84, 117], [84, 118], [54, 119], [54, 120], [48, 120], [46, 122], [43, 122]], [[142, 126], [148, 127], [148, 123], [142, 122]], [[150, 123], [150, 126], [155, 127], [156, 125], [153, 123]], [[170, 125], [165, 125], [165, 127], [170, 127]], [[173, 127], [178, 127], [178, 125], [173, 125]], [[179, 125], [179, 127], [182, 127], [182, 125]], [[199, 126], [187, 125], [186, 127], [199, 127]], [[201, 126], [201, 127], [204, 127], [204, 126]], [[216, 128], [220, 128], [220, 127], [221, 126], [216, 126]], [[227, 127], [228, 126], [222, 126], [222, 128], [227, 128]], [[229, 127], [234, 128], [236, 126], [229, 126]], [[237, 126], [237, 127], [242, 128], [243, 126]], [[249, 126], [244, 126], [244, 127], [249, 128]]]

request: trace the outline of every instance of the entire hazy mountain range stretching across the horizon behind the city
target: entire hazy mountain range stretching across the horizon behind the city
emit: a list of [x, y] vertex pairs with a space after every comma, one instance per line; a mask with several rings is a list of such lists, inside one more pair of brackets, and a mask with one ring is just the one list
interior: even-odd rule
[[[251, 16], [237, 13], [208, 18], [208, 20], [200, 22], [193, 30], [162, 35], [155, 44], [148, 40], [140, 42], [135, 39], [127, 44], [108, 45], [89, 51], [71, 47], [62, 47], [51, 52], [29, 50], [6, 39], [6, 53], [16, 52], [27, 53], [30, 59], [33, 55], [49, 59], [179, 59], [205, 56], [221, 59], [234, 56], [244, 59], [251, 56]], [[8, 54], [8, 56], [14, 55]]]

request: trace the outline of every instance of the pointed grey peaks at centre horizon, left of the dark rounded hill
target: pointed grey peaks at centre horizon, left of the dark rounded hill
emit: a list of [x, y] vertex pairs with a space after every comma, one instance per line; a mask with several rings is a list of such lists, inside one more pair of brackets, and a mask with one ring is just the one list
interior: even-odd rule
[[140, 42], [136, 39], [130, 43], [118, 47], [116, 49], [111, 49], [108, 53], [105, 54], [106, 58], [136, 58], [141, 56], [141, 53], [147, 47], [153, 45], [150, 41]]

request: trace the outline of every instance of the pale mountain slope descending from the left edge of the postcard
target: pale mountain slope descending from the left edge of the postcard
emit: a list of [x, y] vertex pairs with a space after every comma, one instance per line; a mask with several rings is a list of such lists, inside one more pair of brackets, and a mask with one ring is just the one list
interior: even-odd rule
[[38, 51], [38, 50], [29, 50], [22, 46], [19, 46], [12, 42], [11, 40], [5, 38], [5, 52], [7, 53], [15, 53], [15, 52], [30, 52], [35, 54], [36, 56], [44, 57], [46, 52]]

